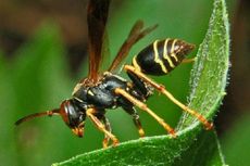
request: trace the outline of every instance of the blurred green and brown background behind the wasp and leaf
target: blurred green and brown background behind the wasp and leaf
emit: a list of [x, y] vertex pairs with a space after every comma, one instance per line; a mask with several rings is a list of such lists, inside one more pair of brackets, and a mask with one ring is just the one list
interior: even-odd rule
[[[250, 2], [226, 2], [232, 33], [230, 84], [215, 124], [226, 162], [245, 165], [250, 150]], [[160, 26], [132, 49], [126, 63], [155, 39], [180, 38], [198, 47], [212, 4], [208, 0], [113, 0], [108, 24], [111, 55], [105, 61], [111, 62], [139, 18], [146, 26]], [[14, 126], [24, 115], [58, 107], [87, 75], [86, 7], [87, 0], [0, 1], [0, 165], [50, 165], [102, 148], [103, 136], [89, 120], [83, 139], [72, 135], [61, 117], [41, 117]], [[190, 64], [182, 65], [165, 77], [154, 78], [187, 103], [190, 68]], [[126, 77], [123, 72], [121, 75]], [[164, 97], [155, 93], [148, 105], [172, 126], [178, 123], [182, 111]], [[165, 135], [149, 115], [139, 113], [147, 136]], [[112, 110], [108, 117], [121, 141], [138, 139], [125, 112]]]

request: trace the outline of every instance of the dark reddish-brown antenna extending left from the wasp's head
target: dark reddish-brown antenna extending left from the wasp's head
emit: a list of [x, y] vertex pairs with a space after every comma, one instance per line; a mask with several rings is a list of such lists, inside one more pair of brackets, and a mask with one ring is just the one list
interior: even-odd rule
[[52, 115], [60, 115], [60, 110], [59, 108], [55, 108], [55, 110], [52, 110], [52, 111], [47, 111], [47, 112], [42, 112], [42, 113], [35, 113], [35, 114], [30, 114], [30, 115], [27, 115], [21, 119], [18, 119], [17, 122], [15, 122], [15, 125], [20, 125], [24, 122], [27, 122], [27, 120], [30, 120], [35, 117], [39, 117], [39, 116], [52, 116]]

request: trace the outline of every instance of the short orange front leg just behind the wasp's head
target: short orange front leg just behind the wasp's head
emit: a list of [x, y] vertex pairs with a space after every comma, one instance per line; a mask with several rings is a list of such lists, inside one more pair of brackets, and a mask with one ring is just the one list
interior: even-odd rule
[[117, 145], [118, 144], [118, 139], [112, 135], [110, 131], [108, 131], [105, 129], [105, 126], [93, 115], [95, 114], [95, 110], [93, 108], [88, 108], [86, 111], [87, 116], [92, 120], [92, 123], [97, 126], [97, 128], [104, 132], [112, 141], [113, 141], [113, 145]]

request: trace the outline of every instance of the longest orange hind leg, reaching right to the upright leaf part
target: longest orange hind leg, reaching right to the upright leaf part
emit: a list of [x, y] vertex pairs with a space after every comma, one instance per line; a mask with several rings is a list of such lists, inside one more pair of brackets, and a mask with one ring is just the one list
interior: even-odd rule
[[213, 128], [213, 124], [208, 122], [205, 119], [204, 116], [202, 116], [201, 114], [199, 114], [197, 111], [193, 111], [191, 108], [189, 108], [188, 106], [186, 106], [185, 104], [180, 103], [177, 99], [175, 99], [166, 89], [164, 86], [157, 84], [154, 80], [152, 80], [151, 78], [147, 77], [145, 74], [142, 74], [141, 72], [139, 72], [138, 69], [136, 69], [134, 66], [130, 65], [125, 65], [124, 66], [125, 71], [129, 71], [133, 72], [134, 74], [136, 74], [139, 78], [143, 79], [146, 82], [150, 84], [152, 87], [154, 87], [158, 91], [160, 91], [161, 93], [165, 94], [173, 103], [175, 103], [176, 105], [178, 105], [182, 110], [188, 112], [189, 114], [191, 114], [192, 116], [196, 116], [204, 126], [205, 129], [212, 129]]

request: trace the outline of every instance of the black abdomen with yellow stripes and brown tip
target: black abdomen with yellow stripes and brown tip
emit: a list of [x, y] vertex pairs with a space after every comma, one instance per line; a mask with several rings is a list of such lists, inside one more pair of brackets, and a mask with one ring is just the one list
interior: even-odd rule
[[155, 40], [133, 59], [133, 65], [145, 74], [166, 75], [193, 48], [193, 44], [179, 39]]

